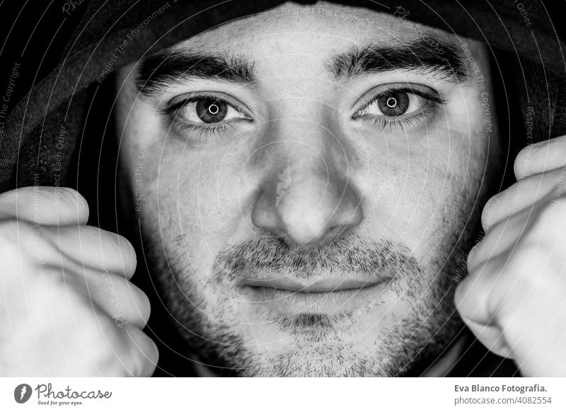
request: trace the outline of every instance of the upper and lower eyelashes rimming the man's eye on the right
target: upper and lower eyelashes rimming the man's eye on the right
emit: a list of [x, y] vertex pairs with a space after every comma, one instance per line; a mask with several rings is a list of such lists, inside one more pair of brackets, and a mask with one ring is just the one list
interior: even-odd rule
[[392, 93], [392, 92], [414, 94], [416, 96], [420, 96], [422, 98], [425, 98], [431, 104], [427, 104], [423, 108], [420, 108], [420, 110], [418, 110], [418, 113], [416, 115], [400, 115], [396, 118], [391, 117], [391, 116], [380, 116], [380, 117], [366, 116], [364, 118], [363, 115], [359, 115], [359, 116], [354, 115], [354, 116], [352, 116], [352, 118], [353, 119], [361, 118], [362, 122], [371, 123], [371, 125], [381, 127], [382, 130], [385, 129], [387, 126], [389, 126], [389, 130], [393, 130], [393, 127], [400, 127], [401, 129], [405, 129], [405, 127], [409, 127], [409, 126], [414, 125], [415, 122], [422, 123], [425, 120], [425, 118], [427, 118], [427, 115], [430, 115], [430, 114], [434, 113], [435, 110], [437, 110], [439, 105], [445, 105], [446, 104], [446, 101], [443, 98], [441, 98], [440, 96], [434, 96], [431, 93], [421, 91], [417, 88], [411, 88], [411, 87], [407, 87], [407, 86], [396, 86], [396, 87], [393, 86], [393, 87], [387, 88], [386, 90], [381, 91], [380, 93], [376, 94], [373, 98], [371, 98], [371, 100], [368, 103], [366, 103], [364, 105], [363, 108], [357, 110], [356, 113], [359, 113], [360, 111], [365, 110], [372, 103], [375, 103], [377, 101], [377, 99], [379, 99], [382, 96], [386, 96], [386, 95], [388, 95], [388, 93]]

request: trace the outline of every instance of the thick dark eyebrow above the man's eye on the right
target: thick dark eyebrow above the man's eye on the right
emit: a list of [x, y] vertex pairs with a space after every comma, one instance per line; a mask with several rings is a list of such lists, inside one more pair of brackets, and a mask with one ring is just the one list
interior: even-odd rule
[[[461, 83], [468, 70], [454, 45], [434, 40], [432, 47], [421, 40], [404, 45], [366, 45], [333, 57], [328, 69], [336, 79], [352, 78], [385, 71], [408, 70], [431, 74], [446, 81]], [[439, 51], [443, 52], [440, 53]]]

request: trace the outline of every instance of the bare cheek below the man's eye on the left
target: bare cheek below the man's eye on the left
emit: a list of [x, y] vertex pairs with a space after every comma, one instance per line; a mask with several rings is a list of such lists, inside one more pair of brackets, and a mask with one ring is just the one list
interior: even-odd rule
[[161, 142], [144, 157], [141, 218], [170, 252], [183, 249], [204, 263], [226, 244], [234, 217], [241, 216], [238, 173], [208, 159], [222, 154], [196, 153], [172, 139]]

